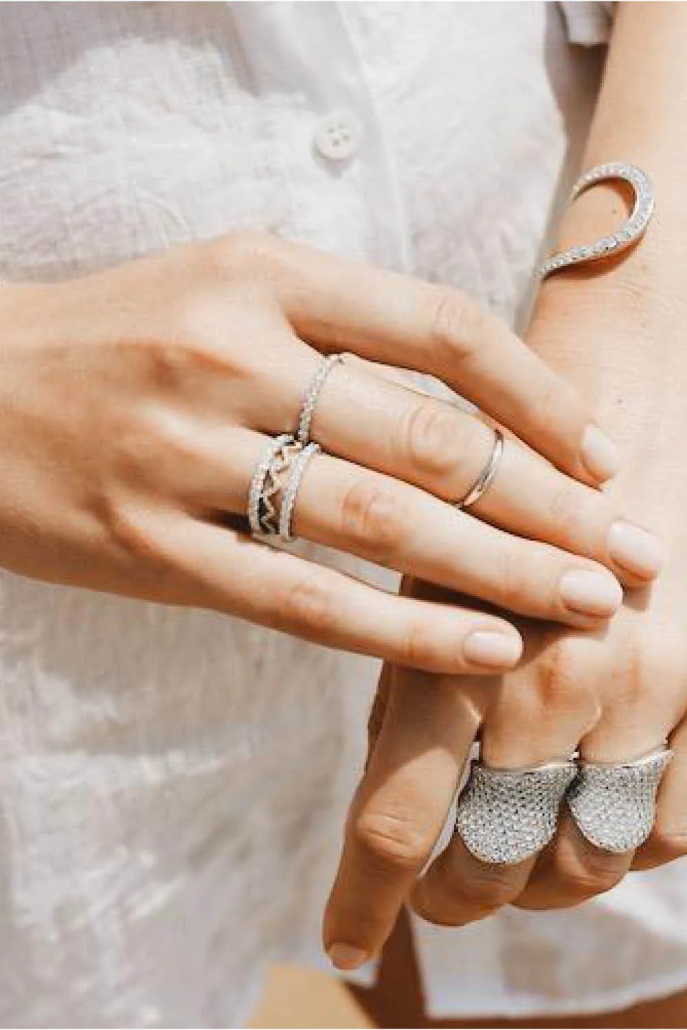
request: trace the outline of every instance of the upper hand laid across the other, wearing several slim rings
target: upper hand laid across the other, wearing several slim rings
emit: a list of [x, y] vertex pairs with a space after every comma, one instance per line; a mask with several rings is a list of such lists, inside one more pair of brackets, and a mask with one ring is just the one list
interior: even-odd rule
[[[456, 291], [237, 234], [4, 286], [0, 336], [0, 563], [25, 575], [436, 672], [511, 667], [520, 640], [503, 618], [392, 596], [237, 522], [268, 435], [295, 428], [320, 353], [344, 348], [364, 360], [322, 390], [313, 435], [337, 456], [308, 467], [297, 534], [578, 626], [620, 603], [602, 563], [625, 582], [637, 572], [609, 536], [613, 507], [578, 482], [614, 471], [612, 445], [562, 379]], [[562, 471], [511, 443], [481, 513], [503, 528], [456, 511], [447, 502], [477, 478], [491, 431], [371, 362], [443, 378]]]

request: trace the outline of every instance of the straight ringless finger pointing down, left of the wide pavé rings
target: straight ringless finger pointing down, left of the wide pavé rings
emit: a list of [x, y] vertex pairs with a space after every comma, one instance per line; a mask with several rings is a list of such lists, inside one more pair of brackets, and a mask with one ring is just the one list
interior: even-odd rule
[[[479, 691], [398, 666], [377, 745], [346, 824], [324, 915], [339, 968], [379, 953], [441, 833], [481, 720]], [[479, 688], [483, 696], [488, 681]]]

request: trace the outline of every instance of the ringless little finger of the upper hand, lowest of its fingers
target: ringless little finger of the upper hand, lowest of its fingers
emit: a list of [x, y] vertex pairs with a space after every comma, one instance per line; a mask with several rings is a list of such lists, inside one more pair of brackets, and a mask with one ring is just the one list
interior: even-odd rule
[[434, 673], [512, 668], [522, 641], [505, 619], [400, 597], [212, 523], [179, 519], [170, 544], [177, 604]]

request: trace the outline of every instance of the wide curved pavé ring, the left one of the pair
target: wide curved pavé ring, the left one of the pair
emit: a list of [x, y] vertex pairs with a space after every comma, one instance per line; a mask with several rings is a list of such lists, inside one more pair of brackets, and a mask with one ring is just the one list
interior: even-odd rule
[[473, 762], [458, 798], [455, 832], [481, 862], [523, 862], [553, 837], [565, 791], [576, 775], [573, 761], [519, 769]]

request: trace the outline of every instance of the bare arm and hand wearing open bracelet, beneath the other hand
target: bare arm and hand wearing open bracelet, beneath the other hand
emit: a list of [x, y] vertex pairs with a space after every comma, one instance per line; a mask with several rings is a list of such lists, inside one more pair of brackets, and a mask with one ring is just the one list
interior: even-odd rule
[[[354, 798], [324, 919], [335, 964], [379, 952], [401, 905], [461, 926], [505, 904], [559, 908], [610, 890], [630, 868], [687, 854], [687, 356], [684, 240], [687, 161], [686, 4], [620, 5], [585, 167], [631, 161], [650, 172], [657, 212], [629, 254], [563, 273], [541, 290], [528, 342], [602, 412], [623, 468], [606, 489], [668, 548], [651, 586], [629, 590], [613, 621], [581, 632], [522, 621], [522, 663], [491, 681], [387, 665], [371, 720], [371, 751]], [[637, 82], [642, 89], [636, 89]], [[590, 191], [560, 227], [561, 246], [589, 242], [622, 218], [614, 186]], [[575, 521], [575, 512], [565, 510]], [[414, 596], [436, 596], [406, 581]], [[638, 757], [669, 742], [650, 838], [636, 853], [592, 847], [563, 811], [539, 856], [486, 865], [454, 836], [423, 873], [460, 770], [479, 736], [483, 760], [518, 767], [570, 755]]]

